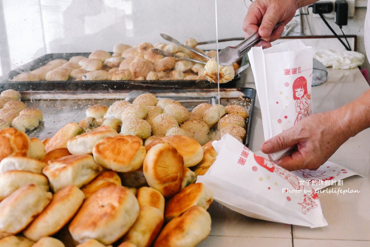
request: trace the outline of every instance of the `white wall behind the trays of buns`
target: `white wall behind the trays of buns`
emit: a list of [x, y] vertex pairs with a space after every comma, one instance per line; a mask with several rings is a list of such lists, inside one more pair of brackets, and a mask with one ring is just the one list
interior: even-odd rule
[[[164, 41], [166, 33], [181, 42], [216, 39], [215, 0], [2, 0], [11, 69], [46, 53], [111, 51], [116, 43]], [[249, 0], [218, 0], [219, 39], [242, 37]], [[343, 27], [359, 36], [364, 53], [366, 9]], [[331, 35], [320, 18], [307, 16], [314, 35]], [[334, 26], [333, 20], [329, 22]], [[305, 24], [305, 23], [303, 23]], [[305, 33], [308, 33], [304, 25]], [[337, 29], [339, 31], [339, 29]], [[3, 35], [4, 30], [0, 30]], [[4, 46], [5, 44], [0, 44]], [[225, 44], [220, 44], [220, 48]], [[215, 45], [211, 47], [215, 49]], [[366, 64], [369, 68], [369, 64]], [[2, 71], [7, 74], [7, 71]], [[0, 74], [1, 76], [1, 74]]]

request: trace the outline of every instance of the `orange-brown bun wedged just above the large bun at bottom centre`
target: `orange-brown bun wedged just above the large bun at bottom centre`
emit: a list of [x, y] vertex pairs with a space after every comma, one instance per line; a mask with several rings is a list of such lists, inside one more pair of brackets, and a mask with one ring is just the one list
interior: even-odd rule
[[85, 194], [86, 198], [89, 198], [96, 191], [101, 188], [118, 185], [122, 186], [121, 178], [115, 171], [102, 171], [97, 177], [85, 184], [81, 190]]

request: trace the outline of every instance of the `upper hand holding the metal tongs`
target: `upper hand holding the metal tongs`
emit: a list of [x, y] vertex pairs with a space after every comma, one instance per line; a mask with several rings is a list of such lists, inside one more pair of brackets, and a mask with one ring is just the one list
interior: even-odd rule
[[[263, 48], [271, 46], [270, 42], [277, 40], [284, 31], [284, 26], [293, 19], [300, 7], [297, 0], [256, 0], [250, 4], [243, 22], [245, 37], [258, 30], [262, 37], [259, 45]], [[274, 30], [275, 25], [282, 24]]]

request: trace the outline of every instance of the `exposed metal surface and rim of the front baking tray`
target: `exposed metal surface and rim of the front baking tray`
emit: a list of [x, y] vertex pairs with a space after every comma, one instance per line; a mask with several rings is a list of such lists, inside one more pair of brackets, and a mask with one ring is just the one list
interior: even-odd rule
[[[147, 90], [145, 92], [153, 93], [158, 99], [169, 98], [179, 101], [182, 106], [191, 111], [200, 103], [218, 104], [218, 92], [216, 90]], [[132, 91], [121, 92], [116, 99], [41, 99], [23, 100], [27, 107], [36, 107], [43, 112], [44, 120], [40, 125], [27, 134], [30, 137], [37, 137], [43, 140], [52, 137], [61, 127], [69, 122], [78, 123], [86, 117], [85, 111], [88, 107], [95, 104], [110, 106], [117, 100], [133, 100]], [[144, 93], [144, 91], [135, 91], [135, 93]], [[81, 94], [80, 96], [83, 96]], [[255, 104], [256, 90], [252, 88], [220, 89], [221, 104], [227, 106], [238, 104], [248, 111], [249, 117], [246, 119], [246, 138], [245, 146], [248, 147], [250, 131], [252, 127], [252, 115]], [[22, 94], [22, 99], [24, 99]], [[27, 97], [26, 97], [27, 98]]]

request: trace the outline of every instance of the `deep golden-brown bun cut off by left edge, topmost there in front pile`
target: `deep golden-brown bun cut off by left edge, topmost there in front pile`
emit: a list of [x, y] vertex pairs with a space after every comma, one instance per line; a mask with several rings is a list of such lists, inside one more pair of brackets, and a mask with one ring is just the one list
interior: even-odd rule
[[8, 156], [29, 155], [31, 140], [16, 128], [0, 130], [0, 161]]

